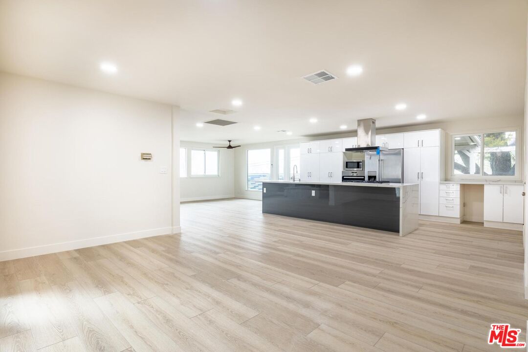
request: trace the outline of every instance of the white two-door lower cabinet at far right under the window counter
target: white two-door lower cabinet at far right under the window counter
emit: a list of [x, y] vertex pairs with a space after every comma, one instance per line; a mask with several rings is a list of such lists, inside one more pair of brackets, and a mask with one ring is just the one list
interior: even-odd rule
[[484, 222], [522, 224], [523, 185], [484, 185]]

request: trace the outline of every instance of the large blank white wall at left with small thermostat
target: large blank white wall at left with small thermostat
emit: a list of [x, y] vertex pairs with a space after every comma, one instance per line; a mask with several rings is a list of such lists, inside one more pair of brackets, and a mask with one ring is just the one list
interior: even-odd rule
[[177, 108], [11, 74], [0, 97], [0, 260], [180, 229]]

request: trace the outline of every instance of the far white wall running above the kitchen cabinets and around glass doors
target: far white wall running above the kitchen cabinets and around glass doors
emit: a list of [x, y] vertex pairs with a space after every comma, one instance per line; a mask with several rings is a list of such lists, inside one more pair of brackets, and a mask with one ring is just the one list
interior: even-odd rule
[[[319, 123], [323, 123], [322, 121]], [[474, 130], [485, 130], [492, 128], [511, 128], [511, 127], [522, 127], [524, 125], [522, 116], [515, 117], [500, 117], [493, 119], [477, 119], [477, 120], [457, 120], [457, 121], [446, 121], [438, 123], [424, 123], [422, 125], [416, 126], [406, 126], [406, 127], [397, 127], [397, 128], [385, 128], [376, 131], [376, 134], [389, 134], [389, 133], [398, 133], [398, 132], [410, 132], [410, 131], [419, 131], [426, 129], [436, 129], [441, 128], [447, 132], [447, 134], [457, 134], [463, 133], [466, 131]], [[319, 140], [319, 139], [331, 139], [331, 138], [346, 138], [346, 137], [355, 137], [357, 134], [344, 133], [344, 134], [333, 134], [333, 135], [318, 135], [310, 136], [306, 138], [299, 138], [295, 140], [283, 140], [276, 142], [267, 142], [267, 143], [258, 143], [258, 144], [247, 144], [235, 150], [235, 188], [234, 193], [235, 197], [239, 198], [249, 198], [249, 199], [262, 199], [262, 194], [260, 192], [247, 191], [247, 151], [248, 149], [271, 149], [272, 163], [274, 163], [274, 148], [280, 145], [291, 145], [307, 140]], [[449, 138], [449, 137], [448, 137]], [[448, 149], [448, 148], [446, 148]], [[446, 157], [446, 162], [449, 162], [449, 158]], [[446, 166], [450, 170], [449, 166]]]

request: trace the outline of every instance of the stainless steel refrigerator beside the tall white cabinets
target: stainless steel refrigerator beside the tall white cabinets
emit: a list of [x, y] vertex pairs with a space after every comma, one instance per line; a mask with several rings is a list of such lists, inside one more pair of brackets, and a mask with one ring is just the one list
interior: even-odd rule
[[365, 180], [401, 183], [403, 180], [403, 149], [365, 151]]

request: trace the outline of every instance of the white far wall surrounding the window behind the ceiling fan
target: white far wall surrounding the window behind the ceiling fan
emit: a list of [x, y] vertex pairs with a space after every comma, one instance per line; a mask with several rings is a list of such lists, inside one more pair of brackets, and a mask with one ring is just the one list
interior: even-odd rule
[[181, 201], [203, 201], [234, 197], [234, 150], [220, 150], [220, 176], [191, 177], [191, 149], [211, 149], [213, 146], [198, 142], [181, 141], [187, 149], [187, 177], [180, 178]]

